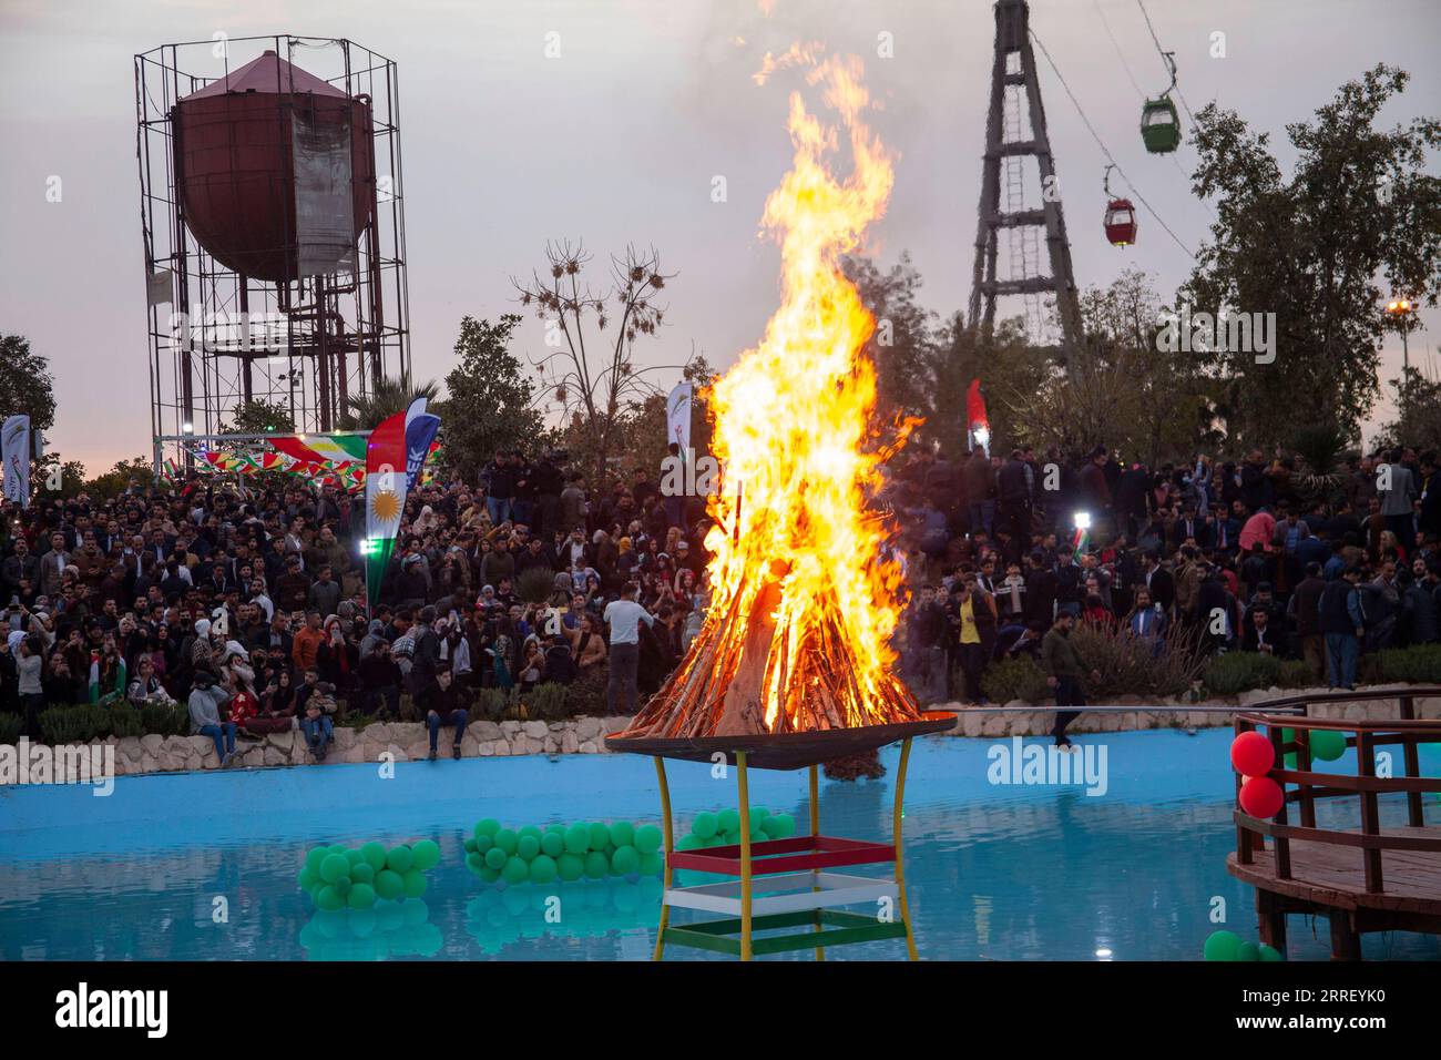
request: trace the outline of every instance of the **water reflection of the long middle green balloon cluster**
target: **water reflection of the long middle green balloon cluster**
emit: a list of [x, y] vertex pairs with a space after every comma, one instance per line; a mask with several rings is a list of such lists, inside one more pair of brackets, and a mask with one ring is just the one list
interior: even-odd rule
[[465, 932], [487, 953], [543, 935], [598, 937], [653, 924], [660, 896], [661, 883], [653, 875], [635, 884], [608, 878], [556, 881], [553, 887], [486, 887], [465, 903]]

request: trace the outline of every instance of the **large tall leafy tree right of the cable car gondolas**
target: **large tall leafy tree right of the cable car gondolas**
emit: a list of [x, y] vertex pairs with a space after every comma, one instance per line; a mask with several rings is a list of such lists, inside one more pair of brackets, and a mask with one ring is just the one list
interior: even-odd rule
[[1314, 123], [1287, 125], [1298, 156], [1290, 180], [1268, 134], [1215, 104], [1197, 115], [1192, 189], [1215, 198], [1216, 222], [1182, 296], [1208, 313], [1274, 313], [1277, 324], [1274, 363], [1251, 350], [1192, 355], [1226, 384], [1233, 441], [1270, 446], [1297, 420], [1333, 414], [1355, 433], [1379, 389], [1379, 280], [1437, 304], [1441, 180], [1422, 167], [1441, 146], [1441, 124], [1375, 127], [1406, 81], [1379, 65], [1342, 85]]

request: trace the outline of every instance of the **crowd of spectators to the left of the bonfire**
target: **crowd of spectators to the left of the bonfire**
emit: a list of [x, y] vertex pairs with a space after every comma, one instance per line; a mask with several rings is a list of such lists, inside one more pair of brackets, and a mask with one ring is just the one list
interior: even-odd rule
[[192, 474], [7, 505], [0, 710], [39, 738], [50, 705], [184, 704], [222, 761], [284, 728], [321, 760], [337, 711], [399, 717], [402, 692], [432, 757], [441, 728], [460, 756], [487, 688], [559, 682], [634, 712], [705, 607], [703, 505], [651, 477], [598, 495], [563, 454], [500, 454], [474, 487], [419, 486], [373, 609], [363, 503], [333, 487]]

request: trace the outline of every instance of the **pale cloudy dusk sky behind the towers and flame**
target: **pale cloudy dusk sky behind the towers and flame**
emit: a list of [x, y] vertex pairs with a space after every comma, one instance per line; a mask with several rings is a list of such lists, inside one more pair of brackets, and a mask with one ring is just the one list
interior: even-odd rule
[[[1376, 62], [1412, 74], [1386, 123], [1438, 110], [1437, 0], [1148, 0], [1193, 111], [1216, 100], [1280, 140]], [[1146, 199], [1192, 251], [1209, 208], [1187, 192], [1187, 146], [1147, 156], [1140, 97], [1166, 76], [1134, 0], [1033, 0], [1032, 27]], [[148, 453], [144, 260], [135, 175], [133, 56], [223, 32], [344, 36], [399, 63], [411, 320], [418, 376], [442, 376], [464, 314], [514, 310], [509, 277], [549, 238], [605, 255], [654, 245], [670, 284], [669, 324], [644, 361], [692, 346], [729, 365], [777, 301], [777, 252], [758, 235], [790, 162], [787, 92], [751, 74], [794, 39], [865, 59], [899, 156], [891, 208], [869, 251], [909, 251], [925, 301], [950, 313], [970, 284], [984, 134], [987, 0], [0, 0], [0, 332], [50, 358], [59, 399], [52, 449], [91, 472]], [[1212, 58], [1225, 33], [1226, 56]], [[548, 35], [558, 35], [549, 36]], [[891, 56], [878, 55], [880, 35]], [[1114, 36], [1114, 42], [1112, 42]], [[561, 55], [546, 56], [546, 42]], [[738, 43], [742, 40], [744, 43]], [[552, 49], [553, 50], [553, 49]], [[1046, 61], [1040, 84], [1076, 278], [1124, 267], [1174, 290], [1190, 267], [1147, 213], [1140, 244], [1104, 241], [1104, 159]], [[50, 176], [63, 199], [46, 202]], [[712, 202], [715, 176], [728, 200]], [[1120, 182], [1117, 182], [1120, 183]], [[1414, 336], [1431, 361], [1441, 314]], [[520, 352], [543, 350], [530, 322]], [[1399, 340], [1385, 352], [1398, 371]], [[0, 410], [3, 412], [6, 410]], [[1379, 410], [1379, 420], [1388, 410]]]

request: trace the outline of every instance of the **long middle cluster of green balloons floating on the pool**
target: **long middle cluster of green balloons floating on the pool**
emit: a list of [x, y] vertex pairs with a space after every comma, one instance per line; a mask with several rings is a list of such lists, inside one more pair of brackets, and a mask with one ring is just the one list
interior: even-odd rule
[[660, 875], [666, 867], [656, 825], [527, 825], [512, 831], [494, 818], [486, 818], [465, 838], [465, 868], [487, 884], [549, 884], [556, 880], [604, 880], [624, 877], [635, 881]]

